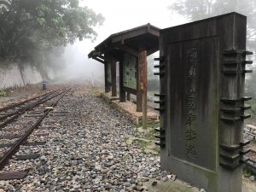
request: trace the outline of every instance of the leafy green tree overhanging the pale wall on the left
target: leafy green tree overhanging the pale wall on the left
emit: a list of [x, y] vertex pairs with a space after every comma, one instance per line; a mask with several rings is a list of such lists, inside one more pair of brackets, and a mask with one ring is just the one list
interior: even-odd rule
[[55, 47], [94, 40], [103, 20], [79, 0], [0, 0], [0, 57], [41, 65]]

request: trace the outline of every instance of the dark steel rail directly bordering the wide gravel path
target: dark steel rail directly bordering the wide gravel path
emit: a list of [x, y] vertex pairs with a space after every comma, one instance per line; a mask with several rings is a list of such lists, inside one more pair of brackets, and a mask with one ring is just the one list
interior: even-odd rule
[[[65, 96], [65, 94], [71, 90], [73, 86], [69, 87], [67, 90], [62, 92], [62, 96], [60, 96], [60, 98], [58, 98], [52, 105], [51, 107], [55, 107], [55, 105], [57, 104], [57, 102], [59, 102], [61, 100], [61, 98], [63, 96]], [[6, 166], [8, 164], [8, 161], [12, 158], [12, 156], [19, 150], [20, 145], [22, 143], [24, 143], [27, 139], [27, 137], [29, 137], [32, 133], [32, 131], [34, 131], [36, 128], [38, 128], [38, 125], [41, 124], [41, 122], [44, 120], [44, 118], [48, 115], [48, 113], [53, 110], [53, 108], [48, 108], [45, 112], [44, 115], [38, 119], [38, 121], [32, 125], [32, 127], [26, 131], [26, 133], [17, 141], [17, 143], [15, 143], [15, 145], [9, 149], [9, 151], [3, 155], [3, 158], [0, 160], [0, 170], [3, 170], [3, 167]]]

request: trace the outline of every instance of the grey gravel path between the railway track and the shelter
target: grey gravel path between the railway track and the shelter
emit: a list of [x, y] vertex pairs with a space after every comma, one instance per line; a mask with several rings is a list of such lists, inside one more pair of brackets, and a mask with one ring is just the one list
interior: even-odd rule
[[30, 172], [22, 180], [0, 181], [0, 191], [146, 191], [149, 179], [168, 179], [159, 156], [125, 143], [137, 136], [131, 121], [84, 85], [67, 93], [41, 127], [49, 132], [47, 143], [19, 151], [40, 159], [11, 160], [5, 170]]

